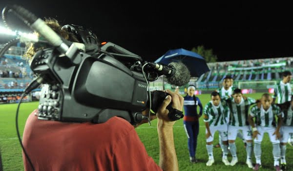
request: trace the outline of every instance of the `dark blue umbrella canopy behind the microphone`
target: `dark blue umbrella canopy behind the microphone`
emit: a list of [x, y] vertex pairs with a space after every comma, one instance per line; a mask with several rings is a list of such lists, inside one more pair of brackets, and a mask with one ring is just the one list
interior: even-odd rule
[[209, 67], [205, 59], [199, 54], [180, 48], [168, 50], [162, 57], [157, 59], [155, 63], [169, 64], [171, 62], [182, 62], [185, 64], [191, 77], [200, 77], [209, 71]]

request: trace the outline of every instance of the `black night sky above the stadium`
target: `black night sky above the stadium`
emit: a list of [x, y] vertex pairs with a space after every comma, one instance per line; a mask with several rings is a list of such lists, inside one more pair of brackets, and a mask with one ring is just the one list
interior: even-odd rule
[[62, 25], [91, 28], [102, 42], [115, 43], [148, 61], [169, 49], [191, 50], [198, 45], [212, 49], [218, 61], [293, 56], [289, 2], [61, 1], [1, 0], [0, 8], [15, 3], [41, 19], [52, 17]]

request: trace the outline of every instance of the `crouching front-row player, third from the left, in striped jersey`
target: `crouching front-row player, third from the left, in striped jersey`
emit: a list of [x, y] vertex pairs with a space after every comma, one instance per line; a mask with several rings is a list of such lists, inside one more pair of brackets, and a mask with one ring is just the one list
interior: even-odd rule
[[[254, 171], [258, 171], [261, 167], [261, 142], [264, 133], [267, 132], [272, 142], [272, 154], [276, 171], [281, 171], [279, 167], [280, 159], [280, 133], [279, 130], [282, 124], [282, 112], [280, 107], [272, 104], [272, 97], [268, 93], [264, 93], [261, 97], [261, 104], [251, 107], [249, 115], [249, 122], [252, 127], [252, 138], [254, 138], [254, 156], [256, 164], [253, 167]], [[277, 116], [277, 125], [275, 123], [275, 116]], [[255, 117], [255, 123], [253, 118]]]

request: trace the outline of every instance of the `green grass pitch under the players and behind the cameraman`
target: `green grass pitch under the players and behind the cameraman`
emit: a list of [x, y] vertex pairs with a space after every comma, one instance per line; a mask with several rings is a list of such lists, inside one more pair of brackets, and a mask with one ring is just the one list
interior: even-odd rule
[[[261, 93], [246, 95], [252, 98], [260, 98]], [[210, 100], [209, 94], [198, 95], [203, 105]], [[0, 105], [0, 150], [2, 156], [3, 170], [4, 171], [23, 171], [21, 145], [17, 139], [16, 126], [15, 126], [15, 114], [18, 104], [5, 104]], [[38, 102], [22, 103], [19, 113], [19, 128], [22, 135], [24, 124], [27, 116], [39, 105]], [[156, 120], [151, 121], [151, 126], [144, 124], [136, 131], [145, 144], [146, 150], [156, 163], [159, 162], [159, 142], [156, 130]], [[251, 171], [246, 161], [246, 150], [241, 140], [236, 140], [238, 163], [235, 166], [225, 166], [222, 163], [221, 149], [214, 148], [215, 163], [211, 167], [206, 166], [208, 160], [208, 154], [206, 150], [205, 139], [205, 126], [203, 117], [200, 118], [200, 132], [198, 136], [196, 157], [199, 159], [199, 163], [191, 164], [189, 162], [187, 136], [183, 128], [183, 120], [176, 121], [174, 126], [174, 141], [175, 148], [179, 163], [180, 171]], [[214, 145], [218, 143], [218, 133], [214, 135]], [[293, 170], [293, 147], [287, 145], [287, 166], [288, 170]], [[229, 161], [231, 156], [228, 156]], [[272, 144], [269, 140], [268, 134], [265, 134], [262, 142], [262, 168], [261, 171], [272, 171], [273, 157], [272, 157]], [[252, 155], [252, 161], [255, 162]]]

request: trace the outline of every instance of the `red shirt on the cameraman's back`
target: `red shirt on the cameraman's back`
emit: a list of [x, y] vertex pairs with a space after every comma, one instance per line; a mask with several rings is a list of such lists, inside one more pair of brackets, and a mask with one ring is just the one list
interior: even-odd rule
[[[22, 143], [36, 171], [162, 171], [135, 129], [112, 117], [101, 124], [39, 120], [33, 111]], [[24, 168], [32, 168], [22, 154]]]

